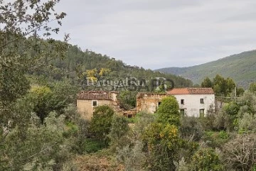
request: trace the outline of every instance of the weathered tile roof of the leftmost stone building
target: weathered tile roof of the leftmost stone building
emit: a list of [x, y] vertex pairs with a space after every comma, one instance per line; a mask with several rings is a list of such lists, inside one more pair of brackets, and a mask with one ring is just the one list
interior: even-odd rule
[[78, 99], [111, 100], [111, 95], [109, 92], [105, 92], [105, 91], [82, 91], [78, 95]]

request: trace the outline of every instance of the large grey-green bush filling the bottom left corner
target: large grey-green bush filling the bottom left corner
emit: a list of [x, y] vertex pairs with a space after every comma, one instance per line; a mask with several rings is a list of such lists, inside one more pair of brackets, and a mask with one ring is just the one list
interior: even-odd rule
[[[36, 115], [31, 117], [39, 121]], [[31, 122], [26, 132], [18, 127], [12, 129], [1, 145], [0, 170], [62, 170], [70, 159], [72, 144], [63, 137], [64, 118], [51, 112], [45, 125]]]

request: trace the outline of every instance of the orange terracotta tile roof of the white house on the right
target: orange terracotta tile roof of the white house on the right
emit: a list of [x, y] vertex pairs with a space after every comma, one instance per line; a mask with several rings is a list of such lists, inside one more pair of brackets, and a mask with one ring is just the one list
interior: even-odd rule
[[171, 91], [167, 92], [167, 94], [214, 94], [214, 92], [212, 88], [192, 87], [171, 89]]

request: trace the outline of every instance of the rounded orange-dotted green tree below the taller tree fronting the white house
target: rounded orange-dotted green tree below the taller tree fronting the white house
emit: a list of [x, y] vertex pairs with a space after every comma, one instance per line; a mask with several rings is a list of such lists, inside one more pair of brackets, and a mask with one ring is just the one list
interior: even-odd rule
[[178, 136], [178, 127], [169, 123], [151, 123], [144, 132], [146, 165], [148, 170], [175, 170], [174, 160], [181, 150], [183, 140]]

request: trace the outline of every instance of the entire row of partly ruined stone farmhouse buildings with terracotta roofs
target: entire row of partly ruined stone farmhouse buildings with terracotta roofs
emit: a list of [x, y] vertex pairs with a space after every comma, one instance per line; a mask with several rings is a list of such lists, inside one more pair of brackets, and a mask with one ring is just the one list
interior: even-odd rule
[[82, 91], [78, 95], [77, 108], [82, 118], [92, 118], [95, 106], [109, 105], [118, 114], [132, 117], [146, 111], [154, 114], [166, 96], [175, 96], [182, 115], [203, 117], [215, 108], [215, 95], [211, 88], [176, 88], [166, 93], [139, 92], [136, 109], [124, 111], [119, 107], [119, 92]]

